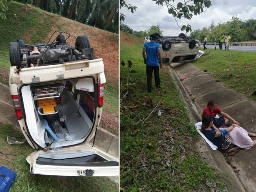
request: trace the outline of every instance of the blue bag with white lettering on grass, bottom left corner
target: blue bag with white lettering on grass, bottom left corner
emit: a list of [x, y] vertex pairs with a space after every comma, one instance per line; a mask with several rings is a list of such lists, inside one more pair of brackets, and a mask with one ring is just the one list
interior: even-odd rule
[[9, 192], [15, 178], [15, 172], [7, 169], [5, 166], [0, 167], [0, 192]]

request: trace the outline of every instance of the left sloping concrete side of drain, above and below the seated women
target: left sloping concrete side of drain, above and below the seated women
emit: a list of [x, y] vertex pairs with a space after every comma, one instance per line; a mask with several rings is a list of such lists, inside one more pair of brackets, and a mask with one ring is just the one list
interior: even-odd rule
[[[184, 65], [184, 64], [183, 64]], [[170, 71], [172, 78], [175, 81], [177, 88], [180, 90], [181, 96], [186, 103], [186, 107], [189, 111], [189, 117], [191, 122], [201, 121], [201, 114], [198, 112], [197, 107], [189, 96], [189, 90], [183, 83], [180, 81], [179, 75], [175, 70], [175, 67], [179, 64], [171, 64]], [[198, 149], [202, 154], [202, 157], [207, 159], [209, 165], [218, 170], [218, 172], [223, 176], [226, 181], [226, 186], [233, 192], [245, 192], [248, 191], [248, 186], [244, 186], [241, 182], [241, 179], [236, 175], [233, 168], [227, 163], [225, 157], [221, 154], [220, 151], [212, 150], [209, 145], [200, 137], [197, 143]], [[254, 188], [254, 187], [253, 187]], [[253, 190], [249, 190], [253, 191]]]

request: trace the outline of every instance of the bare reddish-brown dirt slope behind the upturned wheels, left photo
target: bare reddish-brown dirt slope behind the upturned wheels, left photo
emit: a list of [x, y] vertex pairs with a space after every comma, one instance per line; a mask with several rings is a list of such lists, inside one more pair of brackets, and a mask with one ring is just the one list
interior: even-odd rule
[[70, 38], [68, 38], [67, 44], [71, 46], [75, 46], [77, 36], [86, 35], [91, 47], [94, 48], [94, 54], [103, 59], [107, 81], [118, 83], [118, 35], [65, 17], [56, 17], [55, 19], [56, 25], [51, 28], [44, 41], [47, 42], [55, 30], [68, 32]]

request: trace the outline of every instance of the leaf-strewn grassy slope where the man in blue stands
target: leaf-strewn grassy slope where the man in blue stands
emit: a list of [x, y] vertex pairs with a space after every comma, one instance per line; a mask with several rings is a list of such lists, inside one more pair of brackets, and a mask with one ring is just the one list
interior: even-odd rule
[[[126, 191], [209, 191], [206, 181], [218, 180], [217, 186], [223, 189], [223, 181], [196, 148], [199, 136], [189, 122], [169, 66], [160, 69], [161, 90], [154, 88], [149, 94], [143, 40], [123, 32], [120, 36], [120, 59], [126, 63], [120, 66], [121, 99], [127, 91], [127, 61], [132, 62], [129, 92], [120, 106], [120, 186]], [[159, 109], [163, 111], [160, 118]]]

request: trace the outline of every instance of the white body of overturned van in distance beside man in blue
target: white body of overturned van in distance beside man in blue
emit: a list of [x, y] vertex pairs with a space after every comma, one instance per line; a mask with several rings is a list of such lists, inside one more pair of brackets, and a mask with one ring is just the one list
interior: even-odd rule
[[[163, 38], [174, 38], [174, 37], [163, 37]], [[177, 37], [175, 37], [177, 38]], [[150, 42], [149, 37], [145, 37], [144, 42]], [[157, 42], [158, 43], [158, 42]], [[189, 48], [189, 43], [186, 41], [174, 41], [171, 44], [171, 48], [168, 51], [163, 50], [162, 44], [160, 45], [160, 52], [162, 55], [163, 63], [175, 63], [175, 62], [188, 62], [194, 61], [196, 59], [196, 55], [198, 54], [198, 50], [200, 48], [200, 42], [196, 41], [195, 47], [192, 49]]]

